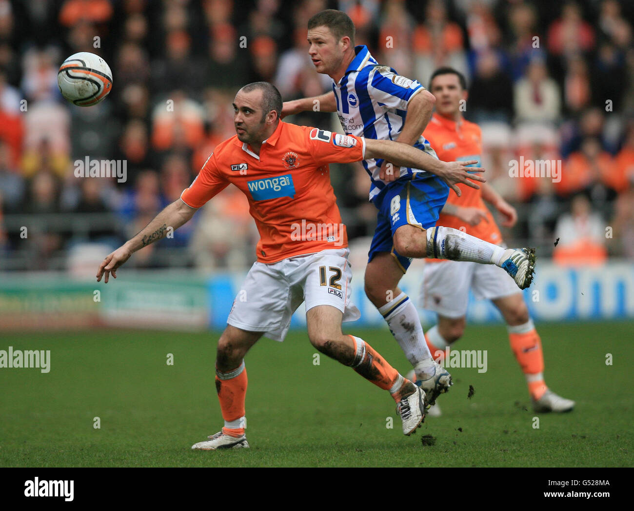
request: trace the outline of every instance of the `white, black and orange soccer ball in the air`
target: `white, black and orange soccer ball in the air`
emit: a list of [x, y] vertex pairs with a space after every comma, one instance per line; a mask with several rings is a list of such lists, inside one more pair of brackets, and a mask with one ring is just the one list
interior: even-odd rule
[[81, 51], [61, 64], [57, 84], [65, 99], [78, 107], [91, 107], [112, 89], [112, 72], [99, 55]]

